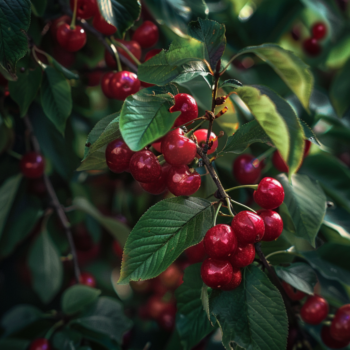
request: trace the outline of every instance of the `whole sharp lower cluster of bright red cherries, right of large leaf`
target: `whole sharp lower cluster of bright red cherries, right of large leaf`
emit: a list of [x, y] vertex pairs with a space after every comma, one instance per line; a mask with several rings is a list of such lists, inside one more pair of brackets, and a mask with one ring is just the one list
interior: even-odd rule
[[254, 243], [274, 240], [282, 232], [282, 219], [271, 210], [283, 202], [282, 185], [274, 178], [264, 177], [253, 196], [264, 210], [258, 210], [256, 214], [240, 211], [233, 217], [231, 225], [220, 223], [205, 233], [203, 242], [209, 257], [203, 261], [200, 274], [203, 282], [211, 288], [236, 288], [242, 278], [240, 268], [254, 260]]

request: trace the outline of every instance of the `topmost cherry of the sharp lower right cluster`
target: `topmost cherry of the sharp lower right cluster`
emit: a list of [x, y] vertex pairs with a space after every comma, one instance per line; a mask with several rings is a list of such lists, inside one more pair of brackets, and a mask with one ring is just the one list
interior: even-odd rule
[[255, 203], [264, 209], [274, 209], [282, 204], [284, 190], [282, 185], [272, 177], [264, 177], [253, 193]]

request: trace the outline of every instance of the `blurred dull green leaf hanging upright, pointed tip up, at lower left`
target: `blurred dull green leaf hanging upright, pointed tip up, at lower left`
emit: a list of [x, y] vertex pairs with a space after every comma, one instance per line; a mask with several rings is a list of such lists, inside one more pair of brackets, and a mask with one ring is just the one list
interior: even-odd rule
[[32, 286], [41, 301], [48, 303], [59, 291], [63, 280], [63, 266], [59, 252], [44, 230], [29, 250], [28, 264]]

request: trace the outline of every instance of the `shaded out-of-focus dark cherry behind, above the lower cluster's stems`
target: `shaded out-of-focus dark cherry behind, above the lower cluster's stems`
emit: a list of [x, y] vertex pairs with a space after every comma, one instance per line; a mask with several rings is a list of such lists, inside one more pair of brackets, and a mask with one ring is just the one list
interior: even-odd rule
[[233, 176], [240, 184], [253, 184], [261, 174], [260, 165], [255, 167], [252, 160], [255, 157], [251, 154], [238, 155], [233, 161]]

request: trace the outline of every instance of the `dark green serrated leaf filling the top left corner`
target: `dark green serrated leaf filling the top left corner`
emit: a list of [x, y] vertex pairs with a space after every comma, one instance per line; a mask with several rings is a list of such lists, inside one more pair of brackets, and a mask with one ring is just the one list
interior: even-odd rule
[[0, 0], [0, 65], [15, 76], [16, 62], [28, 49], [29, 0]]

